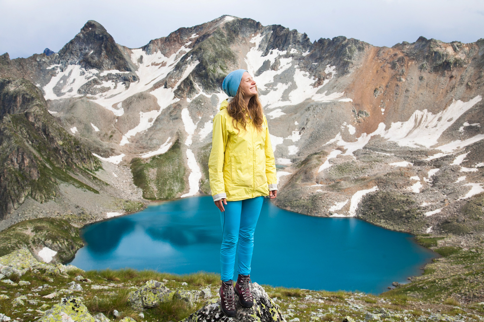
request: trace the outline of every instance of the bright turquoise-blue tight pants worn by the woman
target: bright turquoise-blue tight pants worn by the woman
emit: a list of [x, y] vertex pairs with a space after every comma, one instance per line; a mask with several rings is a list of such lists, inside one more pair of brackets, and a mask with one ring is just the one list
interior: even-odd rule
[[222, 247], [220, 248], [221, 279], [224, 282], [234, 276], [235, 252], [238, 247], [239, 274], [250, 274], [250, 262], [254, 249], [254, 231], [259, 219], [264, 197], [240, 201], [227, 201], [225, 211], [220, 212], [222, 224]]

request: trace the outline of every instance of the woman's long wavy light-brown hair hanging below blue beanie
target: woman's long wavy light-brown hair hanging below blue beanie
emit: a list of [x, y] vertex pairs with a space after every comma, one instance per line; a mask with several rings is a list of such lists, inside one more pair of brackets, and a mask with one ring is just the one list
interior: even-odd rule
[[[257, 87], [256, 87], [257, 88]], [[246, 130], [247, 126], [247, 117], [246, 114], [252, 120], [252, 124], [257, 129], [258, 132], [262, 131], [262, 124], [264, 123], [264, 112], [262, 111], [262, 104], [259, 100], [259, 95], [256, 94], [250, 98], [249, 104], [245, 106], [244, 101], [244, 91], [241, 87], [237, 89], [237, 93], [233, 100], [228, 102], [227, 112], [228, 115], [232, 117], [232, 123], [234, 124], [234, 128], [236, 128], [239, 132], [240, 129], [238, 126], [241, 126], [244, 131]]]

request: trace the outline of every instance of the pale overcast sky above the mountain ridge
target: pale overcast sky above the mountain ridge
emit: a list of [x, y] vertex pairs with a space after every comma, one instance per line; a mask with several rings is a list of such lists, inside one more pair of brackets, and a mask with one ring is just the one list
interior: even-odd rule
[[393, 46], [419, 36], [484, 38], [483, 0], [0, 0], [0, 54], [57, 52], [91, 19], [117, 43], [136, 48], [221, 15], [297, 29], [311, 41], [341, 35]]

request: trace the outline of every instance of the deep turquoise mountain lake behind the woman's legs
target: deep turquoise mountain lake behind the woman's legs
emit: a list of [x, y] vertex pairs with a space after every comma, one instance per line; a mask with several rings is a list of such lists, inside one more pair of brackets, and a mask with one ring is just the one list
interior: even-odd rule
[[[85, 270], [218, 272], [222, 228], [211, 196], [150, 205], [91, 224], [71, 262]], [[273, 286], [381, 293], [422, 273], [435, 253], [410, 234], [356, 218], [304, 216], [264, 202], [255, 233], [253, 281]], [[236, 270], [237, 272], [237, 270]]]

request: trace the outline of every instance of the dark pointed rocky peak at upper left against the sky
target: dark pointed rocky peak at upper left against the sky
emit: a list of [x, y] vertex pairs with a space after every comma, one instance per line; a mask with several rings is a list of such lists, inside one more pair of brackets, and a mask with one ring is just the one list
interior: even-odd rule
[[81, 31], [67, 43], [59, 56], [64, 66], [79, 64], [85, 69], [133, 72], [129, 57], [121, 51], [114, 38], [94, 20], [89, 20]]

